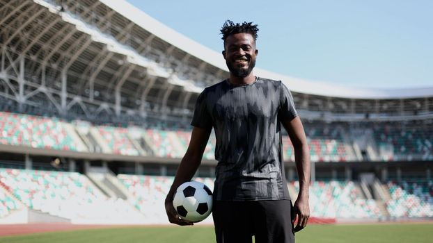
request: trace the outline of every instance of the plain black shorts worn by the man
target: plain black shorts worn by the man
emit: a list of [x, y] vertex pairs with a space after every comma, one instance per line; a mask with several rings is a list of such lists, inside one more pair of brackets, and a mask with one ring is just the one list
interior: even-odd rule
[[217, 243], [294, 243], [292, 202], [214, 201]]

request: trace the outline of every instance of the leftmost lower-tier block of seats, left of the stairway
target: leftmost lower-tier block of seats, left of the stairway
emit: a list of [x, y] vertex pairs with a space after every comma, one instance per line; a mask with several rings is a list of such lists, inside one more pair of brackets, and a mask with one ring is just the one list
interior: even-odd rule
[[0, 169], [1, 183], [26, 207], [79, 224], [136, 224], [142, 215], [121, 199], [108, 199], [75, 172]]

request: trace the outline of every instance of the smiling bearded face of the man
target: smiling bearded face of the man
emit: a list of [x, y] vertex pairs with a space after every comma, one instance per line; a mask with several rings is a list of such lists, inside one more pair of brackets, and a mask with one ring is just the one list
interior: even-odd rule
[[237, 33], [226, 38], [223, 56], [230, 73], [234, 76], [249, 76], [255, 66], [257, 53], [253, 35], [249, 33]]

